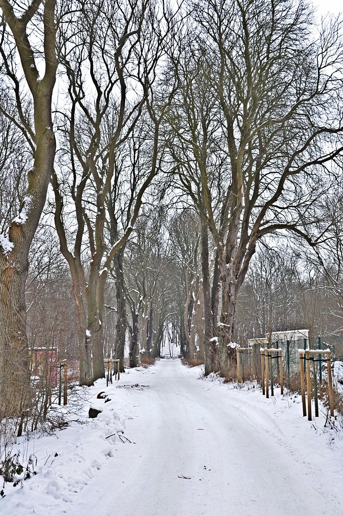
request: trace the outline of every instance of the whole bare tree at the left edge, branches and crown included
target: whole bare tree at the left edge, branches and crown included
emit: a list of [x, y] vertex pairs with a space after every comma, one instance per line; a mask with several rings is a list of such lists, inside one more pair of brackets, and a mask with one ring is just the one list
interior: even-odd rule
[[[56, 147], [51, 114], [57, 69], [56, 2], [34, 0], [18, 7], [17, 2], [1, 0], [0, 8], [1, 73], [9, 92], [1, 111], [25, 136], [33, 155], [20, 214], [8, 222], [0, 239], [0, 399], [6, 410], [14, 390], [18, 402], [13, 407], [18, 411], [22, 405], [18, 385], [23, 385], [23, 393], [29, 390], [25, 307], [28, 252], [45, 203]], [[39, 74], [41, 60], [43, 76]], [[26, 104], [28, 96], [31, 100]]]

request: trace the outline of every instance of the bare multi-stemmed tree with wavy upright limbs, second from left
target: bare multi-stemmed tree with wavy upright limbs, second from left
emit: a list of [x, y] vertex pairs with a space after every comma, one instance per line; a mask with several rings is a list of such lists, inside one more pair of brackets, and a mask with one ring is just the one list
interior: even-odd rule
[[[71, 103], [71, 111], [64, 114], [71, 169], [64, 180], [66, 164], [61, 164], [60, 175], [54, 174], [53, 188], [55, 224], [71, 270], [79, 316], [80, 382], [89, 384], [104, 376], [102, 317], [107, 273], [114, 259], [121, 260], [120, 256], [115, 258], [116, 254], [129, 238], [144, 193], [159, 171], [159, 127], [168, 95], [166, 101], [160, 102], [162, 97], [153, 84], [169, 22], [164, 9], [159, 13], [150, 0], [111, 5], [103, 0], [95, 4], [80, 1], [79, 7], [71, 14], [77, 30], [66, 33], [61, 42]], [[161, 104], [159, 108], [157, 103]], [[143, 114], [145, 121], [140, 122]], [[140, 131], [145, 124], [145, 137], [151, 142], [149, 164], [141, 169], [139, 178], [130, 174], [128, 163], [124, 165], [124, 175], [118, 166], [121, 153], [127, 155], [126, 142], [131, 141], [138, 122]], [[123, 195], [128, 183], [129, 195]], [[63, 204], [69, 196], [68, 189], [77, 220], [73, 236], [67, 229], [68, 215]], [[123, 224], [123, 220], [116, 219], [117, 205], [113, 212], [111, 196], [118, 200], [118, 195], [123, 195]], [[109, 248], [105, 241], [108, 209], [113, 212], [108, 217], [113, 222]], [[67, 212], [70, 214], [70, 208]]]

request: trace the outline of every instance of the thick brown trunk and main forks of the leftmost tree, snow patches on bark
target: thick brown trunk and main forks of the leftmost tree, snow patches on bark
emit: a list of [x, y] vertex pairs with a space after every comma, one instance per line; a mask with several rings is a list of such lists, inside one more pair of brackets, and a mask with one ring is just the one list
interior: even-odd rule
[[[9, 396], [14, 395], [13, 405], [10, 401], [10, 411], [17, 414], [27, 403], [27, 399], [22, 399], [22, 393], [25, 393], [25, 398], [30, 388], [24, 293], [28, 253], [45, 204], [56, 151], [51, 115], [57, 69], [55, 4], [55, 0], [44, 3], [45, 71], [44, 76], [39, 78], [36, 55], [26, 30], [36, 9], [30, 8], [21, 18], [17, 18], [9, 2], [0, 0], [0, 7], [17, 45], [27, 86], [32, 93], [34, 115], [34, 128], [28, 131], [34, 139], [34, 166], [27, 174], [26, 196], [20, 207], [20, 216], [10, 225], [8, 239], [0, 241], [0, 404], [4, 404], [6, 411], [9, 409]], [[5, 370], [10, 364], [12, 374]], [[18, 391], [19, 377], [21, 388]]]

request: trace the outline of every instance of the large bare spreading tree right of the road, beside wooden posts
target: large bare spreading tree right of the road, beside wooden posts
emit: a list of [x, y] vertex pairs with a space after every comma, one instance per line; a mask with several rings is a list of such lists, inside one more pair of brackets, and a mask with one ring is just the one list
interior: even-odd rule
[[196, 37], [173, 62], [180, 94], [170, 124], [180, 181], [217, 249], [225, 369], [257, 242], [307, 234], [304, 215], [342, 151], [340, 22], [316, 38], [310, 8], [291, 0], [194, 2], [190, 15]]

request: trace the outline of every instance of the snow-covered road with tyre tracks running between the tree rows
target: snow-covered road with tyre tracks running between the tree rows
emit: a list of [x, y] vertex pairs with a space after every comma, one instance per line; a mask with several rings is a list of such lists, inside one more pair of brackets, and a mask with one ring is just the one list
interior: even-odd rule
[[180, 361], [158, 363], [126, 431], [134, 453], [119, 447], [79, 514], [90, 507], [106, 516], [114, 507], [118, 516], [342, 514], [291, 436], [197, 376]]

